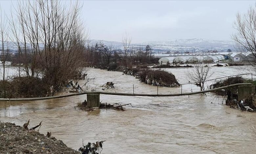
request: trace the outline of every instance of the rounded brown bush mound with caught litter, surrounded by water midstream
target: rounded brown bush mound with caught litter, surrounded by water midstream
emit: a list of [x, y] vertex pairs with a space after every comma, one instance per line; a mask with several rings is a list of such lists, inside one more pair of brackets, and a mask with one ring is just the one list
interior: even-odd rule
[[139, 72], [139, 79], [153, 86], [178, 87], [180, 84], [172, 73], [163, 70], [145, 69]]

